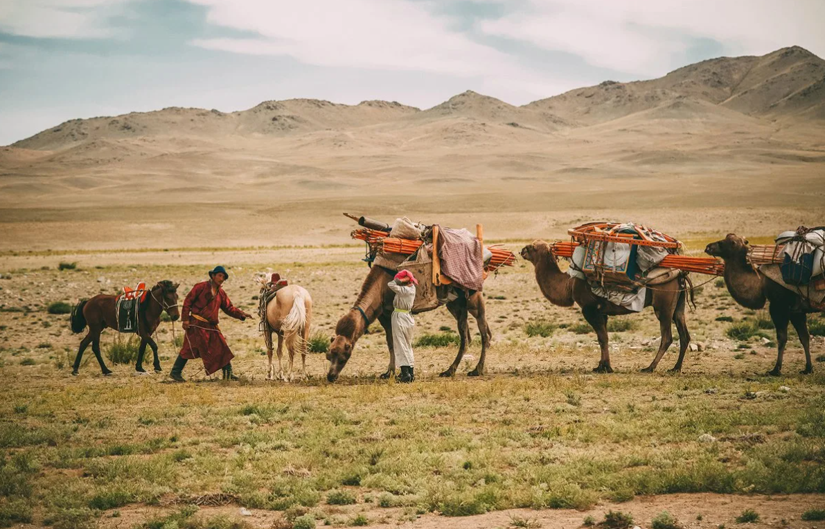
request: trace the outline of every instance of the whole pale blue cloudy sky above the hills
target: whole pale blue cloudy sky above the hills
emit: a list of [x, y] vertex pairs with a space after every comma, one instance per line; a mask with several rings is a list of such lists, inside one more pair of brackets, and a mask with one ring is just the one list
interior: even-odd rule
[[799, 45], [825, 0], [0, 0], [0, 145], [65, 120], [293, 97], [514, 105]]

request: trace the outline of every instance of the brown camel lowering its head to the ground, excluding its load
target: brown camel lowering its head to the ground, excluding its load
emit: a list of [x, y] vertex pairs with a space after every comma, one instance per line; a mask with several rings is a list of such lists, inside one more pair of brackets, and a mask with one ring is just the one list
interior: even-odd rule
[[[361, 286], [361, 293], [358, 295], [355, 305], [338, 320], [335, 327], [335, 336], [331, 339], [332, 344], [327, 353], [327, 360], [330, 362], [327, 380], [330, 382], [337, 380], [338, 375], [347, 365], [358, 338], [364, 335], [367, 327], [375, 319], [378, 319], [381, 327], [384, 328], [387, 336], [387, 347], [389, 347], [389, 367], [381, 375], [381, 378], [385, 379], [394, 375], [393, 326], [390, 319], [393, 314], [393, 291], [389, 290], [387, 286], [387, 283], [392, 281], [394, 274], [395, 272], [386, 268], [372, 267]], [[481, 292], [475, 292], [468, 298], [461, 290], [458, 291], [460, 292], [458, 299], [450, 301], [446, 306], [458, 322], [461, 339], [459, 352], [450, 367], [442, 372], [440, 376], [455, 375], [455, 370], [458, 368], [461, 358], [464, 357], [464, 351], [470, 341], [469, 324], [467, 323], [468, 313], [473, 314], [479, 324], [479, 333], [481, 333], [481, 357], [478, 365], [468, 375], [480, 376], [484, 374], [484, 358], [490, 345], [490, 339], [493, 338], [484, 313], [484, 299]]]

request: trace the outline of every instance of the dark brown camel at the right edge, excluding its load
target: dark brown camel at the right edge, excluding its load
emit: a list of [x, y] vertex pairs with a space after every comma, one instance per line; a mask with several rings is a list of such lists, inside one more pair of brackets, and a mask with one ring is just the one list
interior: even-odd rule
[[821, 312], [814, 309], [808, 300], [771, 278], [764, 276], [757, 267], [747, 262], [747, 239], [736, 234], [728, 234], [722, 240], [708, 244], [705, 253], [721, 257], [724, 261], [724, 282], [730, 295], [739, 305], [747, 309], [761, 309], [767, 301], [776, 328], [776, 365], [768, 375], [778, 376], [782, 372], [782, 357], [788, 342], [788, 322], [794, 324], [799, 342], [805, 350], [803, 374], [813, 373], [811, 363], [810, 335], [808, 334], [808, 313]]

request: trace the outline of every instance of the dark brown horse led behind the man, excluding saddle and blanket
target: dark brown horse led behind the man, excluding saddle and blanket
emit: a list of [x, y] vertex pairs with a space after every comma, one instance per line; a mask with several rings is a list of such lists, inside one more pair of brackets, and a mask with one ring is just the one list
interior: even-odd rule
[[[80, 359], [83, 351], [89, 343], [92, 344], [92, 351], [97, 357], [97, 362], [101, 365], [103, 375], [111, 375], [111, 371], [106, 367], [101, 357], [101, 332], [106, 327], [117, 329], [117, 315], [115, 314], [116, 295], [99, 294], [91, 300], [82, 300], [72, 310], [72, 332], [82, 333], [88, 325], [89, 332], [80, 341], [78, 357], [74, 359], [72, 375], [78, 374]], [[177, 308], [177, 283], [172, 281], [159, 281], [157, 285], [149, 290], [149, 295], [138, 309], [138, 336], [140, 337], [140, 347], [138, 350], [138, 361], [134, 365], [138, 373], [144, 371], [144, 352], [146, 345], [152, 347], [154, 354], [154, 370], [160, 372], [160, 359], [158, 358], [158, 344], [152, 339], [152, 334], [160, 324], [160, 315], [166, 310], [172, 321], [181, 317], [181, 312]]]

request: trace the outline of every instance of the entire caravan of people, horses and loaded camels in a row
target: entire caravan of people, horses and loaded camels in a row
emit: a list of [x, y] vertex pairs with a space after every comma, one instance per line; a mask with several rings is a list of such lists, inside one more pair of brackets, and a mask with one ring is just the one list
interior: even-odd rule
[[[335, 325], [326, 352], [327, 380], [338, 379], [356, 342], [377, 320], [384, 328], [389, 352], [387, 369], [380, 378], [396, 378], [400, 366], [398, 380], [412, 382], [413, 317], [441, 306], [455, 318], [460, 340], [455, 360], [440, 376], [453, 376], [460, 366], [471, 341], [469, 315], [479, 328], [481, 353], [468, 375], [484, 375], [493, 333], [487, 321], [483, 283], [503, 267], [512, 267], [516, 254], [501, 245], [485, 245], [481, 224], [476, 225], [473, 234], [467, 229], [422, 224], [407, 217], [390, 225], [364, 216], [344, 215], [358, 224], [351, 238], [364, 241], [364, 261], [370, 269], [361, 292]], [[780, 375], [789, 323], [794, 325], [804, 348], [802, 372], [813, 372], [807, 314], [825, 312], [825, 227], [801, 226], [780, 234], [775, 244], [762, 245], [751, 245], [738, 235], [728, 234], [705, 248], [710, 257], [686, 256], [680, 241], [639, 224], [594, 222], [569, 229], [568, 235], [568, 241], [535, 240], [521, 248], [521, 257], [533, 265], [542, 295], [553, 305], [577, 305], [596, 333], [601, 357], [592, 371], [613, 372], [608, 319], [647, 307], [653, 307], [661, 338], [650, 365], [641, 371], [656, 369], [674, 341], [674, 324], [679, 355], [669, 371], [681, 371], [691, 345], [686, 312], [688, 307], [695, 307], [691, 273], [700, 273], [723, 276], [733, 299], [747, 309], [769, 305], [777, 358], [768, 375]], [[566, 271], [559, 267], [559, 259], [568, 261]], [[160, 372], [158, 345], [152, 334], [166, 311], [172, 322], [181, 319], [185, 333], [180, 356], [172, 367], [172, 380], [183, 381], [182, 367], [188, 359], [199, 357], [207, 375], [223, 369], [224, 379], [237, 380], [230, 363], [233, 355], [218, 326], [218, 312], [220, 309], [241, 320], [252, 315], [235, 308], [220, 288], [228, 276], [223, 267], [215, 267], [210, 281], [197, 284], [186, 296], [182, 309], [178, 309], [177, 284], [172, 281], [159, 281], [150, 289], [143, 284], [134, 290], [127, 287], [117, 296], [81, 300], [73, 309], [71, 327], [75, 333], [87, 327], [89, 331], [78, 348], [72, 374], [78, 374], [83, 351], [90, 343], [102, 373], [111, 374], [100, 352], [101, 331], [107, 327], [141, 338], [136, 374], [148, 374], [142, 365], [147, 345], [153, 350], [154, 371]], [[260, 276], [258, 282], [258, 328], [268, 357], [266, 380], [295, 380], [296, 353], [301, 356], [299, 378], [306, 380], [312, 296], [278, 274]], [[172, 326], [174, 332], [174, 323]], [[277, 347], [273, 347], [273, 334]], [[289, 360], [286, 370], [284, 348]], [[277, 371], [273, 350], [278, 357]]]

